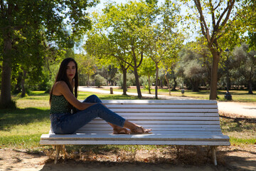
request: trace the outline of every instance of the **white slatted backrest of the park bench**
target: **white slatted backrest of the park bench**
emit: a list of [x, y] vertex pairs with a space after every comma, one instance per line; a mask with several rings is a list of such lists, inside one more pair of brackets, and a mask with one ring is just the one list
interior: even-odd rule
[[[132, 123], [152, 128], [154, 134], [222, 135], [215, 100], [102, 100], [110, 110]], [[112, 133], [104, 120], [96, 118], [76, 133]]]

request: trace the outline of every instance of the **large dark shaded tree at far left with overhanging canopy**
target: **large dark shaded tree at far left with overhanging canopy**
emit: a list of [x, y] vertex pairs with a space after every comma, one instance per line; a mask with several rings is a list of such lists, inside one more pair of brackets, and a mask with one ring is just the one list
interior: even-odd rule
[[[14, 44], [21, 34], [24, 38], [33, 33], [43, 31], [43, 37], [48, 41], [60, 40], [65, 37], [63, 28], [70, 24], [73, 36], [79, 36], [82, 31], [90, 28], [87, 19], [87, 7], [97, 1], [38, 1], [10, 0], [0, 1], [0, 35], [3, 40], [3, 66], [1, 76], [1, 106], [11, 103], [11, 66], [14, 61]], [[69, 19], [64, 23], [65, 19]], [[81, 31], [82, 30], [82, 31]]]

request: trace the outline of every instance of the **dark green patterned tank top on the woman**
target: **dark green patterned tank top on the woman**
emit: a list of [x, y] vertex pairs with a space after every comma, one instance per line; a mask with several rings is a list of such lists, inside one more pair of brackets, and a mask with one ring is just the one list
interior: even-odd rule
[[50, 114], [55, 113], [71, 113], [70, 103], [63, 95], [52, 95]]

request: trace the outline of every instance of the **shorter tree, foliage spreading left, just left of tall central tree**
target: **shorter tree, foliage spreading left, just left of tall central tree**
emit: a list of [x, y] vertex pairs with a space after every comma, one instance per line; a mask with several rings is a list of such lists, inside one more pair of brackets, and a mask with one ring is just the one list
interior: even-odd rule
[[112, 64], [122, 71], [123, 95], [127, 95], [127, 70], [129, 64], [125, 61], [129, 59], [127, 52], [117, 46], [114, 38], [110, 34], [105, 33], [105, 18], [100, 18], [95, 14], [93, 16], [93, 28], [87, 33], [87, 41], [85, 43], [85, 51], [91, 56], [98, 58], [98, 63]]

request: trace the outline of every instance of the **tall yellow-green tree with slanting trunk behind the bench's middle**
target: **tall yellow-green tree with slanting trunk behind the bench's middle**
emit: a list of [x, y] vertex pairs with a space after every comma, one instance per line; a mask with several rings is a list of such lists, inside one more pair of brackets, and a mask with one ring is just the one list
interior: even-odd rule
[[148, 4], [139, 1], [129, 1], [128, 4], [117, 6], [107, 6], [105, 15], [107, 16], [108, 28], [112, 28], [110, 37], [116, 46], [123, 52], [127, 53], [127, 60], [123, 60], [131, 66], [134, 71], [138, 98], [142, 98], [140, 90], [138, 68], [142, 64], [143, 53], [145, 51], [145, 40], [147, 38], [146, 28], [151, 26], [154, 20], [153, 1]]

